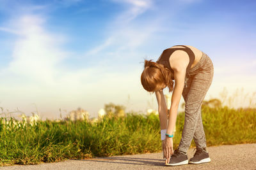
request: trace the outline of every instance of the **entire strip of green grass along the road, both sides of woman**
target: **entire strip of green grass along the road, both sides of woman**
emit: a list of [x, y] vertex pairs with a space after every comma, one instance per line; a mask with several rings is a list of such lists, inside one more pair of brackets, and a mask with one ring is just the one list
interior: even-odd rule
[[[256, 109], [202, 108], [207, 146], [256, 143]], [[0, 118], [0, 164], [39, 164], [65, 159], [84, 159], [135, 153], [161, 152], [158, 115], [126, 113], [100, 122], [63, 120], [23, 124]], [[3, 123], [4, 122], [4, 123]], [[174, 148], [184, 125], [177, 116]], [[192, 142], [191, 147], [195, 146]]]

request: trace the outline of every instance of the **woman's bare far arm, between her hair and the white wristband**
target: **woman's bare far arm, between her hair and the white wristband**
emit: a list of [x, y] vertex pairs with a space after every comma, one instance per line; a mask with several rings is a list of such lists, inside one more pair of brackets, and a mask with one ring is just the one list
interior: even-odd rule
[[163, 90], [156, 91], [156, 99], [158, 103], [158, 113], [160, 120], [160, 127], [162, 129], [167, 129], [167, 106], [164, 99]]

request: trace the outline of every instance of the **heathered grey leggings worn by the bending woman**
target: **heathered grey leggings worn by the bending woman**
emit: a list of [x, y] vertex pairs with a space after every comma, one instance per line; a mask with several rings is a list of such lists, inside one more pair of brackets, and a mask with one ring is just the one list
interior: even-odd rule
[[179, 150], [187, 153], [192, 139], [196, 148], [205, 148], [206, 140], [201, 117], [202, 101], [212, 83], [213, 64], [207, 54], [203, 52], [200, 61], [189, 69], [190, 77], [186, 80], [182, 96], [185, 101], [185, 122]]

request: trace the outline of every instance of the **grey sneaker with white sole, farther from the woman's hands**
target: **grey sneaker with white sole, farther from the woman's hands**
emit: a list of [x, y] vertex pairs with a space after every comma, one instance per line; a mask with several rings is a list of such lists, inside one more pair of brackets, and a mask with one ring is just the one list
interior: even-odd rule
[[195, 148], [195, 149], [196, 149], [196, 152], [194, 154], [194, 157], [189, 159], [189, 164], [202, 164], [206, 162], [211, 162], [209, 153], [205, 148]]

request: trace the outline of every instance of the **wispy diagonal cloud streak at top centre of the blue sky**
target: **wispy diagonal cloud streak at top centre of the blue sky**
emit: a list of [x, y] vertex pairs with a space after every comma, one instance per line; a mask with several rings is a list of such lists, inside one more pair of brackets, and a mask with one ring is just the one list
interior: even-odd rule
[[[108, 49], [113, 49], [115, 52], [111, 52], [112, 57], [113, 53], [121, 53], [126, 50], [134, 50], [138, 46], [142, 45], [147, 41], [152, 34], [157, 31], [160, 27], [160, 20], [152, 18], [151, 22], [145, 23], [143, 27], [132, 22], [139, 15], [152, 8], [154, 5], [153, 1], [145, 0], [112, 0], [115, 3], [120, 4], [129, 4], [122, 13], [116, 15], [116, 18], [113, 19], [113, 22], [109, 22], [106, 29], [106, 38], [103, 43], [95, 46], [92, 50], [85, 53], [85, 56], [88, 55], [99, 55], [102, 51]], [[111, 27], [111, 29], [108, 29]], [[112, 46], [112, 48], [111, 48]], [[115, 46], [113, 48], [113, 46]], [[110, 48], [109, 48], [110, 47]], [[107, 52], [107, 53], [108, 53]], [[104, 53], [106, 55], [106, 51]]]

